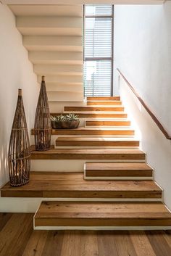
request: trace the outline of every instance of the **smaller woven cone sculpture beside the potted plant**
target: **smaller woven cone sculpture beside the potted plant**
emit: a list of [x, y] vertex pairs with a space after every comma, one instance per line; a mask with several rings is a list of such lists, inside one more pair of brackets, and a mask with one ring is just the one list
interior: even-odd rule
[[38, 151], [48, 150], [51, 146], [51, 119], [45, 78], [42, 77], [41, 90], [35, 117], [35, 148]]

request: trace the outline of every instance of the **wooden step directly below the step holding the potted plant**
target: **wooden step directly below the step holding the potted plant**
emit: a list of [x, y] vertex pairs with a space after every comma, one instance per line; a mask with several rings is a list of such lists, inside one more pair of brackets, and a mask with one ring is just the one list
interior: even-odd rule
[[127, 138], [109, 137], [58, 137], [56, 146], [139, 146], [139, 141]]

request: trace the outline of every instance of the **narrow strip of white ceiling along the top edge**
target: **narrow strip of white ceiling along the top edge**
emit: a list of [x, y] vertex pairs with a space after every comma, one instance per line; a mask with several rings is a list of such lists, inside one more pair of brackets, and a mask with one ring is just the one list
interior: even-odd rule
[[3, 4], [163, 4], [163, 0], [0, 0]]

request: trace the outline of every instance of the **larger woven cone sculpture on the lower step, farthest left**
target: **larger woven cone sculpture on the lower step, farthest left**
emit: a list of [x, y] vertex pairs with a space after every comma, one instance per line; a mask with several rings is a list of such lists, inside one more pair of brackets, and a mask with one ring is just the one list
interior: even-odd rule
[[25, 110], [22, 102], [22, 90], [18, 90], [17, 107], [9, 141], [9, 181], [11, 186], [28, 183], [30, 176], [30, 142]]

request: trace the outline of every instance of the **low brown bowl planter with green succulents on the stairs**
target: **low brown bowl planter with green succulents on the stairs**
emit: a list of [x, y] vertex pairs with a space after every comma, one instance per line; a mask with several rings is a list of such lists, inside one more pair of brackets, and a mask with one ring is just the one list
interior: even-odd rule
[[53, 129], [75, 129], [78, 128], [80, 120], [78, 115], [70, 113], [68, 115], [51, 116], [51, 127]]

